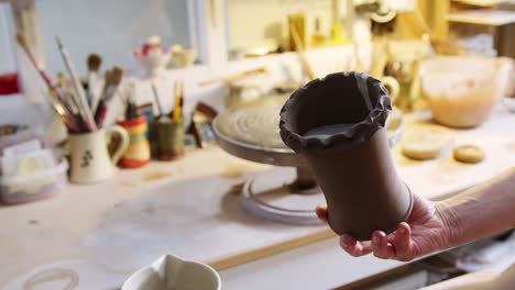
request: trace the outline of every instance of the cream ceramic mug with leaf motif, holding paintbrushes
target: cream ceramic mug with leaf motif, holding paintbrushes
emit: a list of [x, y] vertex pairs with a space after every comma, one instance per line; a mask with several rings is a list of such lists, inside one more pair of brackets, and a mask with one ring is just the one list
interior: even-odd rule
[[[108, 142], [111, 135], [121, 135], [121, 143], [112, 157], [109, 157]], [[129, 145], [127, 131], [114, 125], [107, 130], [69, 135], [70, 181], [74, 183], [96, 183], [114, 174], [116, 166]]]

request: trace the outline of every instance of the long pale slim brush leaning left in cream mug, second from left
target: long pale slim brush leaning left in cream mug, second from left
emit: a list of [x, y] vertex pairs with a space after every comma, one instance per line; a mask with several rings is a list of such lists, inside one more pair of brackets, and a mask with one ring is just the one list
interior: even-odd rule
[[77, 104], [79, 105], [80, 115], [86, 121], [86, 125], [88, 131], [97, 131], [97, 124], [95, 123], [95, 119], [91, 114], [91, 110], [89, 110], [89, 105], [87, 103], [86, 92], [80, 83], [80, 79], [78, 78], [77, 74], [75, 72], [75, 67], [72, 63], [72, 59], [68, 55], [67, 49], [64, 47], [63, 43], [61, 42], [59, 37], [55, 36], [55, 41], [57, 43], [57, 47], [59, 48], [61, 56], [65, 63], [66, 69], [68, 70], [69, 77], [72, 79], [72, 88], [75, 92], [75, 99]]

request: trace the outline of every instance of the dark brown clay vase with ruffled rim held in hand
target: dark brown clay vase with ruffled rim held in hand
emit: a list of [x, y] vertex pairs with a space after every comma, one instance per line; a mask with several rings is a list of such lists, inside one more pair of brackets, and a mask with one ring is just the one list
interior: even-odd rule
[[[398, 178], [384, 124], [392, 110], [381, 81], [361, 72], [340, 72], [308, 82], [281, 111], [283, 142], [304, 155], [328, 205], [328, 222], [339, 235], [370, 239], [393, 232], [413, 207]], [[324, 136], [314, 129], [347, 124]]]

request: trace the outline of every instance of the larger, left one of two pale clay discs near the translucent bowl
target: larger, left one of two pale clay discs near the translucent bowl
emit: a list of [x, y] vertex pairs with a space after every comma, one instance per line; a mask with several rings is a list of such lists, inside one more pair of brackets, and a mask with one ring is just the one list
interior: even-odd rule
[[437, 158], [452, 138], [438, 127], [425, 129], [413, 133], [403, 142], [404, 156], [418, 160]]

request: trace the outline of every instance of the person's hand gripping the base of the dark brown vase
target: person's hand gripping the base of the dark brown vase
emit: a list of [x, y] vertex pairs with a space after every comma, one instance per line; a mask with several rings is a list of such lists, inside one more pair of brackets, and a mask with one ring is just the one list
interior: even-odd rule
[[[340, 246], [354, 257], [373, 253], [377, 258], [401, 261], [443, 249], [449, 245], [450, 232], [442, 207], [414, 194], [412, 213], [393, 233], [386, 235], [382, 231], [374, 231], [371, 241], [363, 242], [343, 234], [340, 236]], [[318, 219], [327, 223], [325, 207], [318, 207], [316, 213]]]

